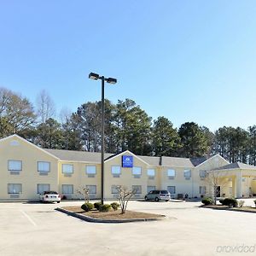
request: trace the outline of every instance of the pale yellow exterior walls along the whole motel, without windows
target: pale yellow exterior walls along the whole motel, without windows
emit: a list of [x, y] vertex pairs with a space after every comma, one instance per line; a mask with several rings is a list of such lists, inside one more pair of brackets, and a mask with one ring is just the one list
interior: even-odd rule
[[[133, 166], [142, 168], [141, 177], [137, 178], [132, 175], [131, 168], [121, 167], [119, 177], [113, 177], [111, 166], [122, 166], [122, 155], [133, 156]], [[12, 175], [8, 170], [8, 160], [21, 160], [22, 171], [19, 175]], [[38, 161], [48, 161], [50, 163], [50, 172], [47, 176], [42, 176], [38, 172]], [[62, 173], [62, 165], [73, 165], [73, 174], [66, 177]], [[167, 189], [168, 186], [175, 186], [177, 194], [188, 195], [189, 197], [201, 197], [200, 186], [207, 188], [207, 195], [212, 191], [207, 183], [206, 178], [200, 177], [200, 171], [211, 170], [220, 166], [227, 165], [227, 161], [216, 155], [203, 164], [191, 166], [150, 166], [136, 155], [129, 151], [118, 154], [105, 161], [104, 165], [104, 197], [105, 199], [114, 199], [117, 195], [112, 194], [112, 185], [124, 185], [127, 189], [132, 189], [133, 185], [141, 185], [142, 193], [136, 195], [136, 198], [143, 198], [148, 192], [148, 186], [155, 189]], [[85, 172], [86, 166], [96, 166], [95, 177], [88, 177]], [[154, 179], [148, 177], [148, 169], [155, 170]], [[167, 170], [174, 169], [176, 177], [169, 179]], [[184, 170], [191, 170], [189, 180], [184, 177]], [[223, 182], [220, 182], [221, 195], [249, 196], [256, 194], [256, 170], [223, 170], [221, 171]], [[239, 182], [241, 178], [245, 182]], [[12, 198], [8, 194], [9, 183], [21, 183], [22, 193], [18, 198]], [[97, 199], [101, 196], [101, 165], [99, 163], [88, 163], [78, 161], [63, 161], [49, 154], [44, 149], [38, 148], [26, 140], [14, 136], [0, 140], [0, 200], [38, 200], [38, 184], [49, 184], [51, 190], [56, 190], [62, 195], [62, 185], [72, 184], [73, 194], [68, 194], [67, 199], [83, 198], [79, 195], [78, 189], [86, 185], [96, 185], [96, 194], [90, 195], [91, 199]], [[241, 185], [241, 188], [239, 187]], [[240, 189], [239, 189], [240, 188]]]

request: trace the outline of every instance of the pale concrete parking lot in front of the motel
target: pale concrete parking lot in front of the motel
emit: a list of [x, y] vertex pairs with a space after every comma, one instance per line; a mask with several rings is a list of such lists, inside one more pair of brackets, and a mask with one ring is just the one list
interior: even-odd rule
[[[197, 202], [131, 201], [129, 210], [168, 218], [93, 224], [55, 211], [81, 204], [1, 202], [0, 255], [242, 255], [237, 246], [253, 250], [256, 244], [254, 213], [203, 209]], [[246, 205], [252, 204], [253, 200], [246, 200]], [[232, 249], [233, 253], [227, 252]]]

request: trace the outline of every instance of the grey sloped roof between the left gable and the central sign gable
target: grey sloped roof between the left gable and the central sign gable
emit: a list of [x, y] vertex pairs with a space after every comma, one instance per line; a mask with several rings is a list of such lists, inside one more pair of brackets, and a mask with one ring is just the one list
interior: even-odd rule
[[[66, 161], [80, 161], [80, 162], [91, 162], [101, 163], [100, 152], [87, 152], [87, 151], [75, 151], [75, 150], [64, 150], [64, 149], [49, 149], [44, 148], [45, 151], [55, 155], [60, 160]], [[109, 158], [113, 154], [105, 153], [105, 159]]]

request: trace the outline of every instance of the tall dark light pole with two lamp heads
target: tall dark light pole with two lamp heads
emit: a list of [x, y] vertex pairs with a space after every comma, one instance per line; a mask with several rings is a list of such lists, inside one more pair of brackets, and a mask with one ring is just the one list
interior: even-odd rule
[[89, 79], [93, 80], [102, 80], [102, 160], [101, 160], [101, 166], [102, 166], [102, 175], [101, 175], [101, 203], [103, 204], [104, 202], [104, 148], [105, 148], [105, 143], [104, 143], [104, 127], [105, 127], [105, 98], [104, 98], [104, 85], [105, 81], [109, 84], [116, 84], [117, 79], [112, 79], [108, 78], [105, 79], [104, 76], [100, 76], [97, 73], [90, 73], [89, 74]]

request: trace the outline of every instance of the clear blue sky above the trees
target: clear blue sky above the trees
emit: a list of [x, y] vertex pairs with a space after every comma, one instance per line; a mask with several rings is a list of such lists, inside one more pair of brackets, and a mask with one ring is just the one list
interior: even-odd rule
[[256, 125], [254, 0], [0, 0], [0, 87], [57, 112], [133, 99], [175, 127]]

